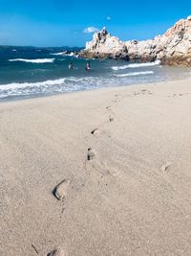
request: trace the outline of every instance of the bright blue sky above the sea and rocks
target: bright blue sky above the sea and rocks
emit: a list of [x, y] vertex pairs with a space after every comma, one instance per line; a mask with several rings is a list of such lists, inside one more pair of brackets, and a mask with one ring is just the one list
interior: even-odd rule
[[84, 46], [103, 26], [121, 40], [146, 39], [188, 15], [191, 0], [0, 0], [0, 44]]

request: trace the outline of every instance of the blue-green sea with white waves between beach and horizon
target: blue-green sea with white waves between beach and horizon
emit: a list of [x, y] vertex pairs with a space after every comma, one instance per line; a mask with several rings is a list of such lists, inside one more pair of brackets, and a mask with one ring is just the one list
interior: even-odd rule
[[[191, 76], [190, 68], [159, 60], [132, 63], [78, 58], [70, 48], [0, 47], [0, 101], [49, 96], [102, 87], [174, 81]], [[70, 62], [74, 69], [69, 69]]]

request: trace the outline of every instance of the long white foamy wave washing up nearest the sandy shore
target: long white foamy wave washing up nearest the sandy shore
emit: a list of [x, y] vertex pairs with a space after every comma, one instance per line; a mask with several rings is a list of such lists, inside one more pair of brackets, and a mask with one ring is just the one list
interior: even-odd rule
[[[101, 87], [132, 84], [132, 80], [119, 80], [117, 77], [129, 77], [153, 74], [153, 71], [134, 72], [129, 74], [116, 74], [108, 78], [104, 77], [64, 77], [47, 81], [25, 81], [0, 84], [0, 99], [8, 97], [46, 95], [61, 92], [82, 91]], [[123, 82], [121, 82], [123, 81]], [[135, 80], [136, 81], [136, 80]], [[135, 82], [134, 82], [135, 83]]]

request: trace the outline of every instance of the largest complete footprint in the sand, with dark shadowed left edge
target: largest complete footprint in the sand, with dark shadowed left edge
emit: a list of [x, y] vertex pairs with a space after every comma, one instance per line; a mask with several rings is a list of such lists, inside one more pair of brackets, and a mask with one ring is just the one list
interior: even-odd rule
[[[68, 189], [71, 185], [70, 179], [62, 180], [54, 189], [53, 189], [53, 196], [58, 200], [64, 200], [66, 198]], [[54, 255], [54, 254], [53, 254]], [[57, 254], [56, 254], [57, 255]]]

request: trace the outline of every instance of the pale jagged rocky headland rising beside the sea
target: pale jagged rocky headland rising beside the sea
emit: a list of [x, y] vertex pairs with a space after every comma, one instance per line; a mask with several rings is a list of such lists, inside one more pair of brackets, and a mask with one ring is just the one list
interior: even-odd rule
[[122, 42], [103, 28], [94, 35], [91, 42], [87, 42], [80, 56], [132, 61], [160, 59], [164, 64], [191, 66], [191, 16], [180, 19], [164, 35], [152, 40]]

